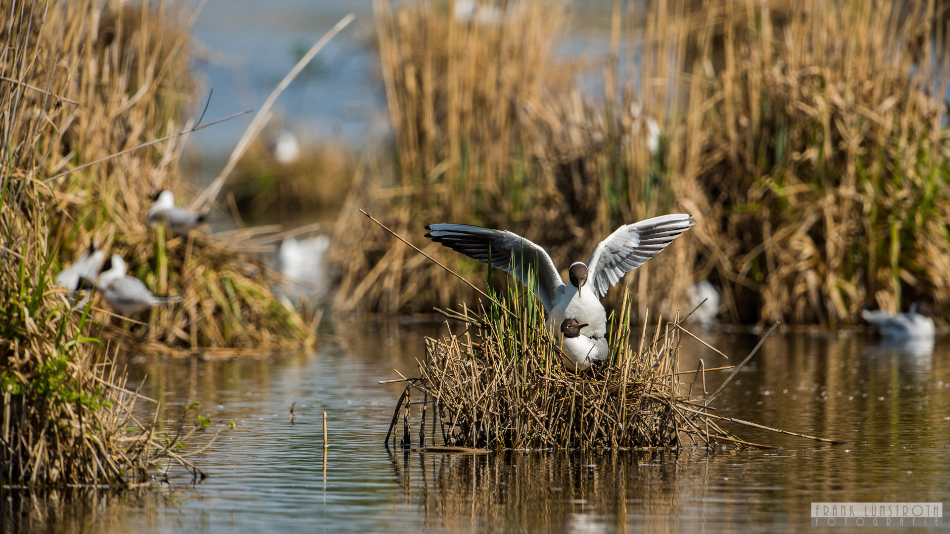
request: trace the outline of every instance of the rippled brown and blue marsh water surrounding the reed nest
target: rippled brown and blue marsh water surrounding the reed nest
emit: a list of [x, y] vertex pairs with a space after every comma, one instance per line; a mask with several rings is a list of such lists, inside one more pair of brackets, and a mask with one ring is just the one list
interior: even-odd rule
[[[212, 425], [189, 448], [223, 429], [195, 457], [208, 478], [193, 484], [173, 471], [125, 492], [3, 490], [4, 530], [781, 532], [814, 528], [813, 502], [950, 500], [950, 340], [940, 336], [908, 346], [868, 334], [774, 334], [714, 403], [724, 415], [851, 445], [729, 425], [781, 448], [485, 456], [385, 448], [400, 386], [377, 381], [398, 377], [393, 369], [412, 373], [423, 336], [445, 328], [337, 324], [313, 353], [134, 358], [129, 371], [162, 402], [165, 429], [194, 401]], [[716, 328], [704, 337], [733, 360], [758, 338]], [[708, 367], [727, 363], [697, 343], [682, 353], [684, 369], [700, 357]], [[707, 389], [726, 374], [711, 372]]]

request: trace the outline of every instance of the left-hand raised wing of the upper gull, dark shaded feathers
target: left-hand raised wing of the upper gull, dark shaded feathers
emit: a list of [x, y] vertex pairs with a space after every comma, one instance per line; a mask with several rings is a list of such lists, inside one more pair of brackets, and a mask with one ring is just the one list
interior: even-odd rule
[[556, 296], [564, 285], [558, 268], [547, 252], [531, 241], [503, 230], [491, 230], [467, 224], [429, 224], [427, 238], [442, 243], [455, 252], [478, 259], [511, 274], [527, 285], [528, 268], [535, 273], [534, 292], [541, 298], [544, 309], [551, 311]]

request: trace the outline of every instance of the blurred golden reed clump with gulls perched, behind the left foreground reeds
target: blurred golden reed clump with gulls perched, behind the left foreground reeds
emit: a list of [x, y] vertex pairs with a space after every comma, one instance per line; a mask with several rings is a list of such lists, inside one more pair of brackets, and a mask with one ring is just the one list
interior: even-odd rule
[[[31, 48], [34, 67], [25, 81], [70, 99], [57, 104], [53, 121], [35, 124], [43, 155], [34, 171], [39, 181], [195, 125], [182, 119], [195, 89], [190, 14], [163, 3], [160, 10], [148, 3], [109, 6], [53, 2], [46, 23], [32, 29], [40, 45]], [[166, 353], [312, 344], [293, 305], [272, 292], [274, 273], [236, 252], [250, 250], [247, 236], [225, 241], [201, 229], [171, 236], [148, 224], [155, 193], [170, 189], [180, 199], [189, 192], [178, 169], [186, 139], [151, 144], [36, 187], [62, 265], [91, 241], [107, 255], [123, 256], [129, 275], [156, 295], [184, 299], [135, 322], [94, 311], [113, 325], [104, 335], [126, 348]]]

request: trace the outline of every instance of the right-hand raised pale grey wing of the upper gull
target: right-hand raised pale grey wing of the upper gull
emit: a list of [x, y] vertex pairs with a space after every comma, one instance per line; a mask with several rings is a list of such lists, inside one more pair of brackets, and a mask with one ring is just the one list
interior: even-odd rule
[[617, 285], [623, 275], [655, 257], [666, 245], [689, 230], [695, 224], [690, 219], [693, 219], [692, 215], [675, 213], [624, 224], [609, 238], [600, 241], [587, 262], [594, 293], [599, 298], [607, 295], [607, 290]]

